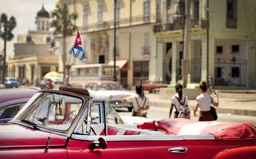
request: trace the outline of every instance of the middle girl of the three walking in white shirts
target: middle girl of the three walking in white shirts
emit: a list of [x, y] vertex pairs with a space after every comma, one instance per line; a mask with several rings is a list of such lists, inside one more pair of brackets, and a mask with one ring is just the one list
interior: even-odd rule
[[[177, 83], [175, 85], [175, 95], [171, 97], [171, 109], [169, 112], [169, 118], [171, 118], [171, 113], [173, 112], [173, 107], [175, 107], [174, 118], [177, 118], [180, 113], [180, 106], [188, 106], [188, 97], [182, 94], [182, 84]], [[189, 117], [190, 118], [190, 117]]]

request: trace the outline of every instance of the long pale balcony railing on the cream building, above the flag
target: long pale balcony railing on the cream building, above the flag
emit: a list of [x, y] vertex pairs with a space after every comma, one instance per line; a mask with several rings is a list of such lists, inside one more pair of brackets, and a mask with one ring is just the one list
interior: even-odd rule
[[[142, 24], [150, 24], [156, 23], [156, 14], [148, 14], [132, 16], [131, 18], [120, 18], [117, 19], [116, 27], [129, 27], [133, 25], [142, 25]], [[91, 25], [87, 25], [86, 27], [81, 27], [82, 31], [90, 32], [90, 31], [100, 31], [104, 29], [113, 29], [114, 28], [114, 20], [108, 20], [101, 23], [99, 27], [99, 23], [93, 23]]]

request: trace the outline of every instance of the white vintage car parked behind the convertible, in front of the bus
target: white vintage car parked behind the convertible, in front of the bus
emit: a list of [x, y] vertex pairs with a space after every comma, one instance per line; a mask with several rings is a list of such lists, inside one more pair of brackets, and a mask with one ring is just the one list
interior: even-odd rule
[[135, 96], [135, 93], [125, 91], [119, 82], [89, 81], [86, 83], [85, 89], [89, 90], [90, 94], [93, 94], [93, 96], [106, 98], [106, 102], [114, 108], [127, 108], [128, 111], [132, 111], [132, 103], [124, 104], [121, 100], [128, 96]]

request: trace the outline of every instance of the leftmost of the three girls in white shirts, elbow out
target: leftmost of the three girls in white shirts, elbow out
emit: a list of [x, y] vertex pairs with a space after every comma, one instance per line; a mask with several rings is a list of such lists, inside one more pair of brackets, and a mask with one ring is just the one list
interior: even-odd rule
[[147, 110], [150, 109], [149, 99], [143, 93], [142, 85], [136, 86], [136, 95], [123, 98], [122, 103], [131, 102], [133, 106], [132, 116], [147, 117]]

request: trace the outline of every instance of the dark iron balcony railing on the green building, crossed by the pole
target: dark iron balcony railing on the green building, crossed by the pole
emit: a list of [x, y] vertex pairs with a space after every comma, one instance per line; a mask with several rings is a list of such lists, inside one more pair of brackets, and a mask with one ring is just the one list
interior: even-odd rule
[[[199, 23], [198, 19], [192, 19], [190, 21], [190, 27], [192, 28], [205, 28], [207, 27], [207, 20], [201, 20], [201, 23]], [[175, 31], [183, 29], [182, 21], [176, 21], [175, 23], [159, 23], [154, 25], [153, 31], [154, 33], [159, 33], [163, 31]]]

